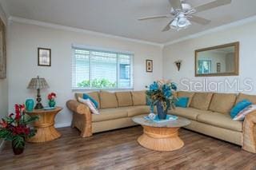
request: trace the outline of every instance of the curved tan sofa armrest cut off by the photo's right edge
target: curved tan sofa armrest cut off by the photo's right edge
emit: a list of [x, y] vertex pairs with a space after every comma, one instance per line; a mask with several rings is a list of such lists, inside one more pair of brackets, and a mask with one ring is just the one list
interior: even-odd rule
[[256, 153], [256, 111], [247, 114], [243, 122], [242, 148]]

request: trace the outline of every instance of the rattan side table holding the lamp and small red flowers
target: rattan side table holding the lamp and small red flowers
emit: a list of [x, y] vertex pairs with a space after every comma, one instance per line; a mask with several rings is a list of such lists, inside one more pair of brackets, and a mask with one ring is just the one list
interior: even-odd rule
[[34, 122], [34, 128], [37, 129], [36, 135], [27, 139], [27, 141], [42, 143], [55, 140], [62, 136], [61, 133], [54, 128], [54, 118], [61, 110], [61, 107], [56, 107], [52, 110], [34, 109], [32, 112], [26, 112], [28, 115], [39, 117], [39, 120]]

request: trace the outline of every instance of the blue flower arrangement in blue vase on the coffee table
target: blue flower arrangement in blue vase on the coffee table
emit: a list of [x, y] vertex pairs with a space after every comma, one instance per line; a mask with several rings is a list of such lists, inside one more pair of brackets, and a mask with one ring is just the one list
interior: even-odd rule
[[[148, 88], [146, 86], [146, 88]], [[174, 92], [177, 90], [177, 86], [170, 81], [154, 81], [146, 90], [146, 97], [152, 105], [157, 106], [158, 118], [160, 120], [166, 119], [168, 109], [174, 108], [174, 102], [177, 98]]]

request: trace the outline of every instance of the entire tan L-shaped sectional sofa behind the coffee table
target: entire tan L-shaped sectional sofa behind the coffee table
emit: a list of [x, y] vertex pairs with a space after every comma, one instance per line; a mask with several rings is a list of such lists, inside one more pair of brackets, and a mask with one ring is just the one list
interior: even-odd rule
[[[72, 127], [78, 128], [82, 137], [91, 136], [94, 132], [133, 126], [135, 124], [131, 117], [150, 112], [146, 105], [145, 91], [101, 91], [88, 94], [100, 104], [99, 115], [91, 114], [90, 109], [77, 100], [66, 103], [74, 113]], [[82, 97], [82, 93], [76, 93], [75, 96]], [[191, 121], [185, 128], [241, 145], [244, 150], [256, 153], [256, 112], [248, 114], [243, 122], [232, 121], [229, 114], [230, 109], [243, 99], [256, 104], [256, 96], [182, 91], [177, 96], [190, 97], [187, 108], [177, 107], [169, 111], [170, 114], [186, 117]]]

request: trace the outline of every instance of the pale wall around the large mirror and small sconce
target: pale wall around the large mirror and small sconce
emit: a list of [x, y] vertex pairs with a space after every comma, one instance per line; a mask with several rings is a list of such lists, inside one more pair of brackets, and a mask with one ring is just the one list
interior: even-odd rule
[[[234, 82], [238, 80], [239, 90], [249, 89], [244, 81], [251, 80], [251, 84], [256, 85], [255, 63], [256, 63], [256, 22], [246, 23], [242, 26], [232, 27], [215, 33], [202, 35], [198, 38], [189, 39], [167, 45], [163, 49], [163, 76], [166, 79], [173, 79], [181, 83], [186, 79], [190, 82]], [[240, 42], [240, 63], [239, 76], [234, 77], [194, 77], [194, 50], [202, 49], [214, 45], [222, 45], [230, 42]], [[174, 61], [182, 60], [182, 67], [178, 72]], [[247, 81], [248, 82], [248, 81]], [[209, 84], [208, 84], [209, 85]], [[181, 86], [180, 86], [181, 87]], [[183, 88], [184, 86], [182, 86]], [[186, 87], [185, 87], [186, 89]], [[224, 92], [225, 86], [221, 86], [219, 91]], [[209, 91], [205, 89], [205, 91]], [[238, 92], [237, 88], [228, 89], [230, 92]], [[256, 93], [255, 89], [246, 93]]]

